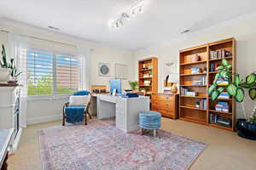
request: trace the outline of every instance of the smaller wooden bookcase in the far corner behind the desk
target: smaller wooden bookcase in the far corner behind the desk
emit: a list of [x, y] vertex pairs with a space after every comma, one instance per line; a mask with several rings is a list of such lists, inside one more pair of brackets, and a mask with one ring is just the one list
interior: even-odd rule
[[[158, 93], [158, 59], [156, 57], [142, 59], [138, 62], [139, 90], [145, 89], [146, 94]], [[145, 84], [144, 82], [149, 83]]]

